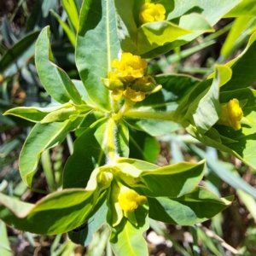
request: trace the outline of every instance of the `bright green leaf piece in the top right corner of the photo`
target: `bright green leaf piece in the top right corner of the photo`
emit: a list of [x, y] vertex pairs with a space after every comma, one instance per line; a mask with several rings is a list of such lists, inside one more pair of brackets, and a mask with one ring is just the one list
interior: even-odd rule
[[237, 4], [235, 8], [231, 9], [230, 12], [224, 15], [224, 18], [233, 17], [255, 17], [256, 5], [254, 0], [242, 0], [241, 3]]

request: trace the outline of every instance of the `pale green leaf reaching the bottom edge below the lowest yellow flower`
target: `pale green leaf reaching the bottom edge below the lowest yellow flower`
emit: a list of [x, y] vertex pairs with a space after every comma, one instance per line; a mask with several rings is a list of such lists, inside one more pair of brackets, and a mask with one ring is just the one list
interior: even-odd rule
[[116, 255], [147, 256], [148, 248], [143, 233], [148, 230], [148, 207], [139, 206], [135, 210], [137, 226], [131, 224], [127, 218], [123, 218], [118, 226], [113, 228], [110, 243]]

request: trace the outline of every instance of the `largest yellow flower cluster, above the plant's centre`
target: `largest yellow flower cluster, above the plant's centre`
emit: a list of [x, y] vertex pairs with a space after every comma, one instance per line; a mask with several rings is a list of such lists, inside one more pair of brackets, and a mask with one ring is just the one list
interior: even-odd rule
[[141, 56], [123, 53], [120, 61], [118, 59], [111, 61], [111, 67], [115, 68], [115, 71], [108, 73], [108, 79], [131, 82], [143, 78], [148, 63]]

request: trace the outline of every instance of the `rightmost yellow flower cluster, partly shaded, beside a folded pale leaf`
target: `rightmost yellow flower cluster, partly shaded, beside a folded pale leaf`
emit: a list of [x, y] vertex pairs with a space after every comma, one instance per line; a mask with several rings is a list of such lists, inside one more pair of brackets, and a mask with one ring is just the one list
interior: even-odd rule
[[218, 125], [227, 125], [234, 130], [241, 129], [241, 118], [243, 116], [239, 101], [237, 99], [230, 100], [227, 104], [222, 106], [222, 113], [218, 119]]

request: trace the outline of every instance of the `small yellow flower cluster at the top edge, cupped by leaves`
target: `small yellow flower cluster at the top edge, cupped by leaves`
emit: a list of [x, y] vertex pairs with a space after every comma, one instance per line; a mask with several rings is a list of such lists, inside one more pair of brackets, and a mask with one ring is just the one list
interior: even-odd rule
[[144, 3], [139, 14], [140, 21], [144, 24], [147, 22], [154, 22], [165, 20], [166, 9], [160, 3]]

